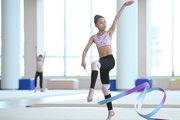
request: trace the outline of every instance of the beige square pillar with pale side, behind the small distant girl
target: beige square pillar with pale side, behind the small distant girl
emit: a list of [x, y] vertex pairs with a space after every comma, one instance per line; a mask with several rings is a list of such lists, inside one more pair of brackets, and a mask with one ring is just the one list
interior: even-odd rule
[[44, 0], [24, 1], [24, 65], [25, 78], [33, 78], [36, 72], [36, 51], [44, 54]]

